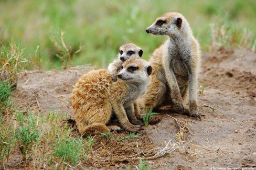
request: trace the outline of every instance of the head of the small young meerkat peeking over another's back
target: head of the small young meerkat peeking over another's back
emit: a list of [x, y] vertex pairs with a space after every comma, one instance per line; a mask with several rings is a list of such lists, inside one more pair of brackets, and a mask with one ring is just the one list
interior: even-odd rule
[[118, 50], [118, 58], [123, 62], [127, 59], [140, 58], [142, 54], [142, 49], [133, 43], [124, 44]]

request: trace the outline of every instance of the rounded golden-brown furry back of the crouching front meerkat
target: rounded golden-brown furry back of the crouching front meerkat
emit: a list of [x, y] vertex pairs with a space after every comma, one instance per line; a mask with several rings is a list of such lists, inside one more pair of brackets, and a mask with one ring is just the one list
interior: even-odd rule
[[93, 123], [105, 124], [111, 117], [108, 88], [111, 77], [106, 70], [93, 70], [76, 83], [71, 103], [78, 128]]

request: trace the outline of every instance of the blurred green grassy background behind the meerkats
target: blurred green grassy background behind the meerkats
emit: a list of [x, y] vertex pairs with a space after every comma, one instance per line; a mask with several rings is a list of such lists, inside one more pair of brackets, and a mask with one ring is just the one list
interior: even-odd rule
[[[228, 22], [227, 29], [251, 30], [255, 35], [256, 1], [82, 1], [82, 0], [12, 0], [0, 1], [0, 41], [13, 37], [22, 42], [27, 59], [39, 56], [43, 70], [60, 67], [60, 59], [51, 34], [62, 30], [73, 51], [83, 49], [73, 58], [73, 65], [106, 67], [118, 48], [133, 42], [148, 56], [166, 37], [148, 35], [145, 28], [166, 12], [182, 13], [190, 23], [203, 52], [210, 49], [211, 25]], [[255, 36], [253, 36], [253, 39]], [[28, 65], [27, 69], [33, 66]]]

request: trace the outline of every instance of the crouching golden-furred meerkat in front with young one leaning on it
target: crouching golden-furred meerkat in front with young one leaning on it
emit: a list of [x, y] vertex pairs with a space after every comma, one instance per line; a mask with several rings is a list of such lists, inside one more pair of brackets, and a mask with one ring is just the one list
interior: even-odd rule
[[101, 69], [84, 74], [76, 83], [71, 103], [81, 134], [109, 132], [105, 124], [112, 114], [125, 130], [141, 130], [141, 121], [134, 115], [134, 101], [145, 93], [152, 67], [140, 58], [128, 59], [122, 66], [116, 82], [107, 70]]

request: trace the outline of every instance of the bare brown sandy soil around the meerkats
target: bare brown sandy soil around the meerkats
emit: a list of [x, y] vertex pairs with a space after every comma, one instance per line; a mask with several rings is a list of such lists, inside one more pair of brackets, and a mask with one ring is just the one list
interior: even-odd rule
[[[138, 149], [143, 153], [164, 147], [169, 140], [177, 142], [179, 131], [176, 118], [190, 124], [193, 134], [185, 134], [187, 151], [177, 149], [163, 157], [148, 160], [152, 168], [159, 169], [208, 169], [208, 167], [256, 167], [256, 54], [244, 50], [220, 50], [217, 54], [204, 54], [200, 84], [204, 93], [198, 97], [202, 121], [161, 111], [161, 122], [150, 125], [138, 139], [116, 142], [97, 138], [93, 150], [108, 161], [85, 161], [79, 167], [127, 168], [138, 160], [127, 159]], [[71, 90], [78, 78], [89, 69], [65, 71], [24, 72], [19, 76], [13, 95], [20, 110], [38, 110], [46, 114], [49, 109], [72, 116]], [[201, 88], [198, 88], [201, 91]], [[212, 109], [207, 106], [215, 106]], [[169, 117], [169, 116], [172, 117]], [[127, 135], [121, 131], [114, 133]], [[194, 146], [193, 144], [197, 145]], [[20, 167], [19, 156], [13, 154], [9, 167]], [[15, 157], [16, 156], [16, 157]]]

